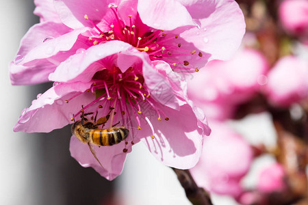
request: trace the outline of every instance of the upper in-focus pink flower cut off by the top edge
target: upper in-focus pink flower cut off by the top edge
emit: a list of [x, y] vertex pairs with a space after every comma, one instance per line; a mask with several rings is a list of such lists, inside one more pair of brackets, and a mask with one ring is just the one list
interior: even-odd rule
[[[48, 81], [71, 55], [123, 41], [177, 72], [195, 72], [238, 49], [245, 25], [233, 0], [35, 1], [40, 23], [29, 29], [10, 65], [13, 84]], [[164, 30], [164, 31], [162, 31]]]

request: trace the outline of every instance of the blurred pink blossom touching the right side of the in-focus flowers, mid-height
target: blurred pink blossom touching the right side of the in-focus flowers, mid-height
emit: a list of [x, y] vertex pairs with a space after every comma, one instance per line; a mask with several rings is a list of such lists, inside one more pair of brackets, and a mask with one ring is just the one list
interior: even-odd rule
[[267, 70], [268, 63], [261, 53], [242, 49], [230, 61], [209, 62], [206, 69], [188, 81], [188, 94], [209, 113], [209, 118], [230, 118], [234, 106], [249, 100], [263, 85]]

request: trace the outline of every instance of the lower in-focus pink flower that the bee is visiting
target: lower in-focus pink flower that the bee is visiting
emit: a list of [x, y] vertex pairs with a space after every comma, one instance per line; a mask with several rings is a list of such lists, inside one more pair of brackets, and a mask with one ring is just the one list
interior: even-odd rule
[[186, 98], [185, 83], [168, 64], [153, 64], [146, 53], [121, 41], [72, 55], [50, 75], [56, 83], [23, 111], [14, 131], [49, 132], [73, 123], [71, 118], [80, 120], [82, 113], [92, 121], [110, 113], [104, 128], [125, 126], [127, 139], [94, 145], [101, 167], [88, 145], [72, 136], [70, 152], [81, 165], [112, 180], [122, 172], [131, 146], [142, 141], [165, 165], [191, 168], [201, 155], [203, 135], [210, 133], [206, 118]]

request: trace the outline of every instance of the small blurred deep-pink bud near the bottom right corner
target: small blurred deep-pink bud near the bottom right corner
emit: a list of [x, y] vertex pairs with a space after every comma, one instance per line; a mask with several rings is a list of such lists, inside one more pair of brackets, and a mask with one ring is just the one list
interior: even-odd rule
[[264, 193], [283, 190], [285, 188], [284, 175], [285, 171], [279, 163], [265, 167], [259, 175], [257, 189]]

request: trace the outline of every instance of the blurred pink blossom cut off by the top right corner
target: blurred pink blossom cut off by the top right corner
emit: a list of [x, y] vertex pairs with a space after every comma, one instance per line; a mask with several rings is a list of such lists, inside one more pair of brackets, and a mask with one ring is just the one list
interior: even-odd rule
[[308, 37], [308, 1], [285, 0], [279, 6], [279, 18], [290, 33]]

